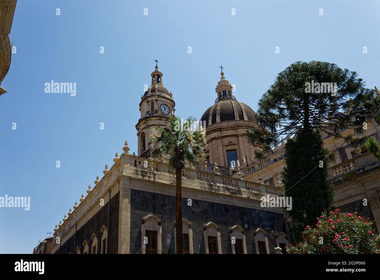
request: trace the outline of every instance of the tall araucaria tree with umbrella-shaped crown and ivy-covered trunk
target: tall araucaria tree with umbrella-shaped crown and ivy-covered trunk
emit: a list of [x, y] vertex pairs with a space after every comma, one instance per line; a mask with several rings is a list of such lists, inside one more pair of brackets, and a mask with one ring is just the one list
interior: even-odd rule
[[[336, 64], [295, 62], [277, 75], [258, 102], [259, 127], [247, 131], [247, 139], [263, 147], [255, 151], [255, 158], [261, 160], [272, 154], [282, 136], [294, 138], [285, 146], [286, 168], [282, 176], [285, 195], [293, 199], [288, 214], [302, 230], [318, 213], [328, 210], [333, 199], [327, 167], [334, 156], [328, 157], [321, 133], [341, 138], [353, 147], [366, 142], [363, 125], [355, 118], [334, 119], [336, 113], [354, 112], [363, 104], [370, 91], [364, 86], [356, 72], [340, 69]], [[353, 133], [342, 135], [346, 128], [352, 128]]]

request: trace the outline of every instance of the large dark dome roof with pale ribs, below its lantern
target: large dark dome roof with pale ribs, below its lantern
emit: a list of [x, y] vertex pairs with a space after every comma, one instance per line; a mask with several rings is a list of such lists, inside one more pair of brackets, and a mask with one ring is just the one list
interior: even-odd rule
[[201, 121], [206, 121], [206, 127], [228, 120], [256, 122], [255, 115], [256, 113], [248, 105], [233, 98], [223, 98], [204, 112]]

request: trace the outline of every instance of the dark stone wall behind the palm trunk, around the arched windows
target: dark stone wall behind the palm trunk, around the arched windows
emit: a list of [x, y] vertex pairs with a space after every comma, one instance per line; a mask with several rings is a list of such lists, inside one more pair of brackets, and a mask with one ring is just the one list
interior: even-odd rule
[[[144, 192], [131, 189], [131, 232], [130, 232], [130, 252], [140, 253], [141, 249], [141, 224], [142, 218], [153, 214], [161, 219], [162, 227], [162, 250], [164, 254], [174, 254], [174, 221], [175, 197], [170, 195]], [[214, 222], [220, 226], [222, 253], [232, 253], [230, 240], [230, 227], [240, 224], [259, 210], [249, 209], [222, 203], [192, 200], [192, 206], [187, 205], [187, 198], [182, 198], [182, 218], [192, 223], [193, 248], [197, 248], [205, 243], [203, 237], [204, 224]], [[247, 222], [241, 225], [247, 243], [247, 253], [256, 253], [253, 232], [258, 228], [264, 229], [269, 242], [269, 251], [274, 254], [275, 234], [281, 230], [285, 231], [283, 214], [261, 211]], [[195, 249], [194, 253], [204, 254], [205, 248]]]

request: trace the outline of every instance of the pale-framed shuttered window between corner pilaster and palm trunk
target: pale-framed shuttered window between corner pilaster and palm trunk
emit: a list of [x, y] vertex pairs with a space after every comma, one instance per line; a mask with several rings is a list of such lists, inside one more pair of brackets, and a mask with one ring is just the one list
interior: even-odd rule
[[162, 254], [161, 220], [154, 215], [142, 218], [141, 225], [141, 254]]

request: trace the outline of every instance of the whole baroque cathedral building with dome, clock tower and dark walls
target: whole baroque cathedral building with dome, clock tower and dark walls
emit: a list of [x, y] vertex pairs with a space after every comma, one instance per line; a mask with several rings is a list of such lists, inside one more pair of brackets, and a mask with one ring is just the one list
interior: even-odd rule
[[[96, 177], [79, 204], [68, 206], [74, 210], [55, 226], [52, 253], [174, 254], [176, 226], [182, 226], [184, 252], [190, 254], [285, 253], [291, 242], [285, 208], [261, 207], [262, 197], [283, 194], [285, 145], [263, 161], [253, 160], [260, 146], [250, 145], [245, 131], [257, 126], [255, 112], [233, 94], [223, 72], [215, 103], [200, 118], [206, 124], [207, 160], [182, 170], [183, 219], [176, 225], [176, 171], [167, 158], [150, 157], [152, 129], [169, 126], [175, 102], [157, 64], [150, 76], [151, 86], [139, 104], [137, 155], [130, 154], [125, 141], [103, 178]], [[368, 135], [375, 137], [373, 126]], [[324, 138], [329, 149], [338, 147], [332, 137]], [[336, 206], [380, 222], [379, 162], [364, 148], [342, 147], [338, 154], [329, 169]]]

